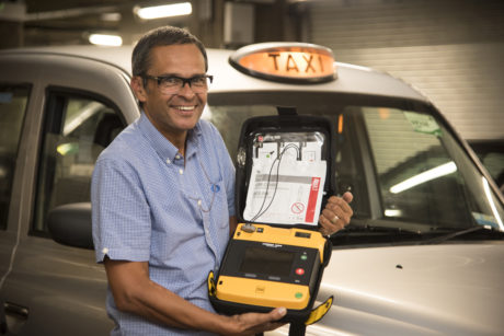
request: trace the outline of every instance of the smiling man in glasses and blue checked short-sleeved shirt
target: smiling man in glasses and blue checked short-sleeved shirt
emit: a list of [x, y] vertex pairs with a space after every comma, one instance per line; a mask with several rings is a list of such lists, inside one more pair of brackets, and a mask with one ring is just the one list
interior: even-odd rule
[[[250, 335], [278, 327], [286, 313], [224, 316], [208, 300], [207, 275], [237, 219], [234, 167], [217, 129], [201, 119], [207, 68], [203, 44], [181, 28], [151, 31], [133, 51], [142, 113], [100, 155], [91, 194], [112, 335]], [[341, 198], [330, 204], [322, 217], [335, 231], [352, 210]]]

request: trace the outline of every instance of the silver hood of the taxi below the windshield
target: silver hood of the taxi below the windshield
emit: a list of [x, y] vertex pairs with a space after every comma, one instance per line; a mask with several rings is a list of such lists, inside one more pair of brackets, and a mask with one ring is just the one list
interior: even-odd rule
[[307, 335], [502, 335], [504, 244], [335, 250]]

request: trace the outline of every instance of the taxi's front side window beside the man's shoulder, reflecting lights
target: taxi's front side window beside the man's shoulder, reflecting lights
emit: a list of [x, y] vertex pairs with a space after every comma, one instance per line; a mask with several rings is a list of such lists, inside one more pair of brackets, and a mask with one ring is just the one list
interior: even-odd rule
[[94, 163], [123, 128], [117, 109], [105, 100], [75, 93], [50, 94], [32, 233], [46, 234], [45, 219], [55, 207], [90, 201]]

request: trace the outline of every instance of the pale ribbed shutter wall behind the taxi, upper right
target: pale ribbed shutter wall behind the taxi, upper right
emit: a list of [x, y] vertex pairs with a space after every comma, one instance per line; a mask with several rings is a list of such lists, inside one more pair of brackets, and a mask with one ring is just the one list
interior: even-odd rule
[[466, 139], [504, 138], [504, 1], [319, 0], [306, 39], [413, 84]]

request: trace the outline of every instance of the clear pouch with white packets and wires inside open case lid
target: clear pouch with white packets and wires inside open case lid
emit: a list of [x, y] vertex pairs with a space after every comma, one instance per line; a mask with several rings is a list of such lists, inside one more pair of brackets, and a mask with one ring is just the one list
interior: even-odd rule
[[319, 131], [256, 134], [243, 219], [317, 225], [327, 173], [323, 142]]

